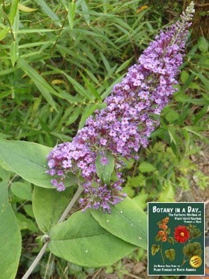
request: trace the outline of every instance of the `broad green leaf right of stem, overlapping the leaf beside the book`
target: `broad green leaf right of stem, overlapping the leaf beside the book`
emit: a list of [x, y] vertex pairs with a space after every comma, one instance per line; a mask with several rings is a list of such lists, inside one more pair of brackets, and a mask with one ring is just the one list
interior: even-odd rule
[[100, 227], [89, 211], [55, 225], [49, 238], [54, 255], [81, 266], [108, 266], [136, 248]]

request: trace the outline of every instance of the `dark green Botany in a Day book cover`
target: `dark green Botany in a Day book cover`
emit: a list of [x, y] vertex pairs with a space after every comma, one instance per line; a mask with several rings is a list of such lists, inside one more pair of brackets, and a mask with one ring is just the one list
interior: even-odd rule
[[148, 275], [204, 275], [203, 202], [148, 202]]

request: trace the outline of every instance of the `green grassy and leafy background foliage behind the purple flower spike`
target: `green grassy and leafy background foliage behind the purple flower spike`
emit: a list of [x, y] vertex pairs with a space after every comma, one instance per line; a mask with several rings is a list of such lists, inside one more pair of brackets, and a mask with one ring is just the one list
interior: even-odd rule
[[[86, 118], [104, 107], [102, 100], [127, 68], [161, 28], [176, 20], [186, 4], [1, 1], [0, 138], [50, 147], [72, 140]], [[208, 176], [192, 160], [199, 154], [203, 158], [209, 123], [208, 34], [199, 28], [208, 13], [201, 8], [196, 13], [199, 20], [194, 22], [195, 32], [188, 40], [178, 92], [164, 109], [148, 149], [140, 151], [137, 163], [127, 162], [124, 172], [125, 192], [143, 209], [148, 201], [176, 200], [176, 190], [189, 190], [191, 181], [201, 190], [208, 187]], [[9, 199], [24, 239], [21, 275], [39, 250], [38, 245], [29, 249], [29, 243], [39, 235], [31, 209], [33, 186], [0, 169], [0, 178], [6, 177], [10, 178]], [[18, 190], [15, 183], [22, 183]], [[134, 252], [130, 259], [144, 259], [144, 252]], [[118, 278], [127, 273], [120, 263], [106, 271], [117, 273]], [[46, 255], [33, 276], [85, 278], [94, 272]]]

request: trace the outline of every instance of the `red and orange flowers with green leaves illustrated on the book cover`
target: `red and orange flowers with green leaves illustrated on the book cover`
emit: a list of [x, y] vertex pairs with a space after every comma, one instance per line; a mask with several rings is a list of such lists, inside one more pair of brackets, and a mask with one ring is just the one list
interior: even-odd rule
[[[188, 226], [178, 225], [178, 227], [174, 227], [172, 237], [169, 236], [172, 234], [168, 223], [169, 217], [165, 217], [157, 222], [157, 226], [159, 227], [157, 235], [155, 236], [155, 241], [157, 243], [151, 246], [151, 255], [155, 256], [157, 252], [160, 252], [162, 263], [165, 264], [166, 260], [173, 262], [176, 258], [177, 252], [180, 252], [182, 249], [181, 254], [183, 255], [183, 260], [181, 266], [183, 266], [186, 262], [189, 262], [191, 266], [192, 264], [194, 265], [194, 262], [192, 262], [191, 259], [194, 257], [201, 259], [202, 254], [201, 243], [194, 241], [194, 239], [201, 236], [200, 229], [197, 228], [196, 225], [192, 224], [189, 224]], [[169, 249], [164, 247], [164, 243], [166, 242], [170, 246]], [[199, 266], [200, 265], [201, 262], [199, 261]]]

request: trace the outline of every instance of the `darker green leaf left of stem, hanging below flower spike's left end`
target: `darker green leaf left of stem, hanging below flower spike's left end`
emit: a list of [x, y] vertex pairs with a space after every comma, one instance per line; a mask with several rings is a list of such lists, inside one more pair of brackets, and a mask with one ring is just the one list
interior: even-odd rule
[[38, 227], [45, 234], [56, 225], [72, 197], [72, 188], [63, 192], [36, 187], [33, 190], [33, 213]]

